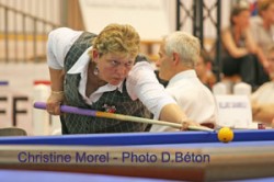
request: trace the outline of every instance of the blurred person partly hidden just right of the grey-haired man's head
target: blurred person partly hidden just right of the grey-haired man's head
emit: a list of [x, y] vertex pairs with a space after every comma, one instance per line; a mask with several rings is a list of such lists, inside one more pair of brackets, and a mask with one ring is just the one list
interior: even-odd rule
[[195, 70], [198, 79], [210, 90], [216, 83], [216, 77], [213, 73], [212, 68], [213, 62], [209, 54], [205, 49], [202, 49], [195, 66]]

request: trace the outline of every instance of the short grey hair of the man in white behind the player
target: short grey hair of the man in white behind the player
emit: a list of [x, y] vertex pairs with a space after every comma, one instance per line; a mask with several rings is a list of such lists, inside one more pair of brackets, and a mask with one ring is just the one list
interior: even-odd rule
[[194, 68], [199, 57], [201, 43], [197, 37], [178, 31], [164, 37], [164, 50], [168, 56], [179, 54], [185, 67]]

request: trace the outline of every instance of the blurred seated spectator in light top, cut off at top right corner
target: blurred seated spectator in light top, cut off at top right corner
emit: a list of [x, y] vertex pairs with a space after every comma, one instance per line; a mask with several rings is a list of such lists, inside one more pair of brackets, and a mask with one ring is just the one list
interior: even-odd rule
[[258, 1], [259, 15], [252, 16], [250, 27], [252, 37], [259, 47], [259, 61], [256, 68], [259, 84], [269, 81], [266, 53], [274, 44], [274, 0]]

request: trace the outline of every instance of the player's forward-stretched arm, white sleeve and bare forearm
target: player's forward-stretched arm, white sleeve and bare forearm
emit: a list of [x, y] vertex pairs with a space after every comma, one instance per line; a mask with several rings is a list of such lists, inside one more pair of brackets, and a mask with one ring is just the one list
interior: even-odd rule
[[182, 123], [184, 112], [165, 92], [148, 62], [138, 62], [129, 72], [127, 89], [132, 99], [139, 99], [147, 109], [161, 121]]

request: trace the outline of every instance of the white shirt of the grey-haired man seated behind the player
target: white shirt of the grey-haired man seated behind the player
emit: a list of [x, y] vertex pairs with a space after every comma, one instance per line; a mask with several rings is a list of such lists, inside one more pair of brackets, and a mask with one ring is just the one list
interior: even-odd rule
[[[197, 78], [194, 70], [175, 75], [165, 88], [185, 115], [196, 123], [216, 123], [217, 106], [213, 93]], [[178, 130], [169, 126], [153, 125], [150, 132]]]

